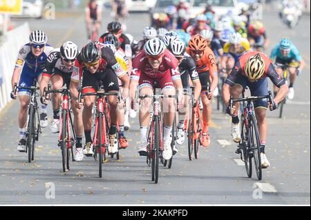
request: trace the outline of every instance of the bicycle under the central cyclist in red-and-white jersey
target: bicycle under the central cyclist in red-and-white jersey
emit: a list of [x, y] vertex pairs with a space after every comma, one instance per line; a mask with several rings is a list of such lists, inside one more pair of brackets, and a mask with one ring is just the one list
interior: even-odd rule
[[153, 115], [151, 119], [151, 126], [148, 134], [147, 145], [147, 165], [151, 166], [152, 177], [151, 181], [158, 183], [159, 178], [159, 161], [163, 160], [162, 152], [163, 146], [163, 133], [162, 133], [162, 116], [160, 110], [160, 99], [162, 98], [176, 98], [176, 95], [162, 95], [162, 94], [145, 94], [140, 96], [140, 99], [151, 98], [153, 99]]

